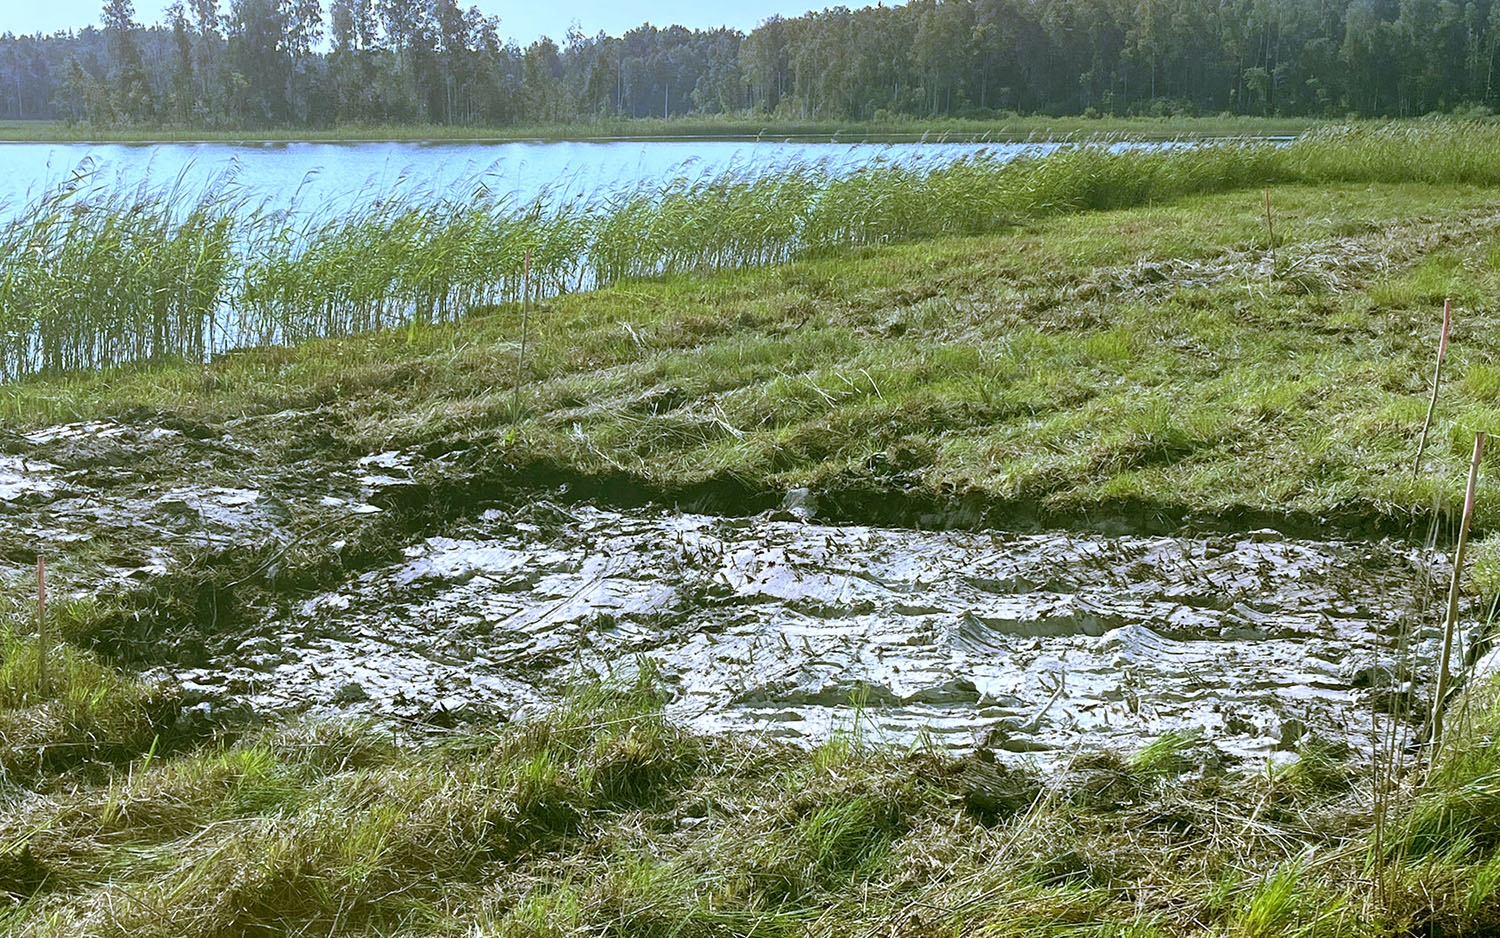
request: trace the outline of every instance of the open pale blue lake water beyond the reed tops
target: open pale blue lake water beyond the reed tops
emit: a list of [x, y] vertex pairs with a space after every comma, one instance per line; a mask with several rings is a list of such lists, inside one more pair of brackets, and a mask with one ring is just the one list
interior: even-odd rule
[[[650, 140], [602, 143], [288, 143], [0, 144], [0, 215], [76, 173], [99, 189], [213, 189], [270, 209], [340, 212], [392, 195], [468, 198], [488, 191], [519, 201], [552, 192], [594, 195], [723, 171], [764, 174], [820, 162], [843, 173], [873, 162], [938, 165], [988, 153], [1046, 155], [1059, 143], [800, 143]], [[1132, 144], [1137, 146], [1137, 144]], [[1140, 144], [1162, 146], [1162, 144]]]

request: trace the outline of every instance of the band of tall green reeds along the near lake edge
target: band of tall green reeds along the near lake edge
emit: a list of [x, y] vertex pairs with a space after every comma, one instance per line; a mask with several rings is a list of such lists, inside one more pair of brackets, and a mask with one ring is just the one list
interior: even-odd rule
[[1298, 182], [1500, 185], [1500, 126], [1356, 125], [1292, 146], [1074, 141], [1018, 159], [734, 168], [526, 203], [489, 191], [378, 194], [342, 215], [219, 195], [232, 188], [116, 192], [88, 179], [45, 192], [0, 227], [0, 380], [450, 321], [516, 303], [528, 285], [534, 297], [555, 296], [1196, 194]]

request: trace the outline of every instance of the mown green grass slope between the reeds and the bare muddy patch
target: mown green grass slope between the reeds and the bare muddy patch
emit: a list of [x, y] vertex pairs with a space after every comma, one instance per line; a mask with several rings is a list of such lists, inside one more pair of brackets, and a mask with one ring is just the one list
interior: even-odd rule
[[[666, 498], [812, 486], [830, 513], [904, 521], [903, 504], [1158, 527], [1450, 513], [1473, 431], [1497, 414], [1494, 189], [1270, 195], [1275, 264], [1254, 191], [555, 297], [530, 314], [519, 396], [520, 311], [498, 305], [207, 366], [10, 383], [0, 414], [316, 411], [339, 447], [464, 453], [441, 470], [460, 477], [610, 477]], [[1444, 296], [1448, 381], [1413, 473]], [[236, 429], [268, 458], [306, 452], [297, 432]], [[1496, 500], [1482, 486], [1482, 528]]]

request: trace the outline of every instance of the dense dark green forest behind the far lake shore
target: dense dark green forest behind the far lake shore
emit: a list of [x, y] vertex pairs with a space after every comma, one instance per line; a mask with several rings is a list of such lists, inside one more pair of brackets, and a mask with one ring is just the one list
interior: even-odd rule
[[0, 36], [0, 117], [202, 129], [1494, 108], [1500, 0], [912, 0], [520, 47], [456, 0], [178, 0]]

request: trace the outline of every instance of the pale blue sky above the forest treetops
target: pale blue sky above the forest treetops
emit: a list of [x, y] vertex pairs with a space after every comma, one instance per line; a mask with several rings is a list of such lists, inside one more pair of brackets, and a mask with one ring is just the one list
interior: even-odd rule
[[[812, 6], [822, 9], [834, 0], [460, 0], [460, 6], [478, 6], [484, 14], [500, 17], [502, 36], [522, 45], [538, 36], [562, 42], [574, 21], [588, 35], [600, 30], [612, 36], [642, 23], [656, 26], [686, 26], [710, 29], [730, 26], [748, 32], [765, 18], [782, 14], [798, 17]], [[171, 0], [135, 0], [135, 18], [152, 24], [164, 20], [162, 11]], [[228, 8], [230, 0], [220, 0]], [[864, 3], [849, 3], [864, 6]], [[99, 26], [104, 0], [0, 0], [0, 33], [51, 33], [63, 29]], [[327, 0], [324, 0], [327, 9]]]

